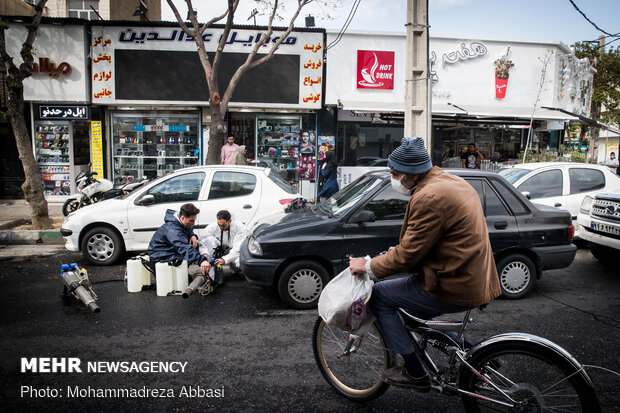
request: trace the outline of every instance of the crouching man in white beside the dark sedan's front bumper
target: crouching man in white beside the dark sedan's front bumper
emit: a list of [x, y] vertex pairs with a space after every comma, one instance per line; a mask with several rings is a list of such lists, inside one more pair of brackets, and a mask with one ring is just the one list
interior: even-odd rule
[[[200, 237], [200, 253], [209, 259], [215, 258], [215, 266], [226, 265], [234, 272], [239, 271], [239, 253], [241, 244], [250, 235], [248, 228], [242, 223], [233, 221], [230, 212], [223, 209], [217, 213], [217, 221], [209, 224], [205, 235]], [[224, 250], [224, 255], [217, 257], [216, 249]]]

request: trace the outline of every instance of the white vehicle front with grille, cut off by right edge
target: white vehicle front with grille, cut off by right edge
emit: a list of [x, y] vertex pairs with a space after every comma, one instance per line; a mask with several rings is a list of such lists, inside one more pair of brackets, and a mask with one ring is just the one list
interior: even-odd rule
[[617, 265], [620, 255], [620, 191], [586, 196], [577, 223], [581, 238], [590, 244], [592, 255], [602, 263]]

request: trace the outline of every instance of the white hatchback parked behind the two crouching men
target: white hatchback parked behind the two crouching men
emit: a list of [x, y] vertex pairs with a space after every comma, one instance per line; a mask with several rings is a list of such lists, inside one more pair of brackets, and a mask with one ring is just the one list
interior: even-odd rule
[[96, 265], [118, 262], [125, 251], [146, 251], [167, 209], [192, 202], [200, 209], [195, 232], [227, 209], [233, 219], [250, 224], [283, 210], [299, 195], [268, 168], [199, 166], [177, 170], [122, 198], [80, 208], [63, 222], [66, 248], [82, 251]]

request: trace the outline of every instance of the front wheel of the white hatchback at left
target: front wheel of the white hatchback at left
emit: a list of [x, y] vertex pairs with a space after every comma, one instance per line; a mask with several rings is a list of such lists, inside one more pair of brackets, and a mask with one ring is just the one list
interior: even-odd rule
[[115, 264], [124, 252], [123, 239], [110, 228], [93, 228], [82, 238], [82, 254], [92, 264]]

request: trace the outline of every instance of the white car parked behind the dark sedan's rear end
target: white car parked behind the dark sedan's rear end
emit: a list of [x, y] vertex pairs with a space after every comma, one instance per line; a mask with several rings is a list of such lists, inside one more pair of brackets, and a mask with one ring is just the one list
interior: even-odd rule
[[533, 162], [512, 165], [498, 173], [532, 201], [568, 210], [576, 239], [581, 237], [575, 221], [583, 198], [620, 190], [620, 177], [601, 165]]

